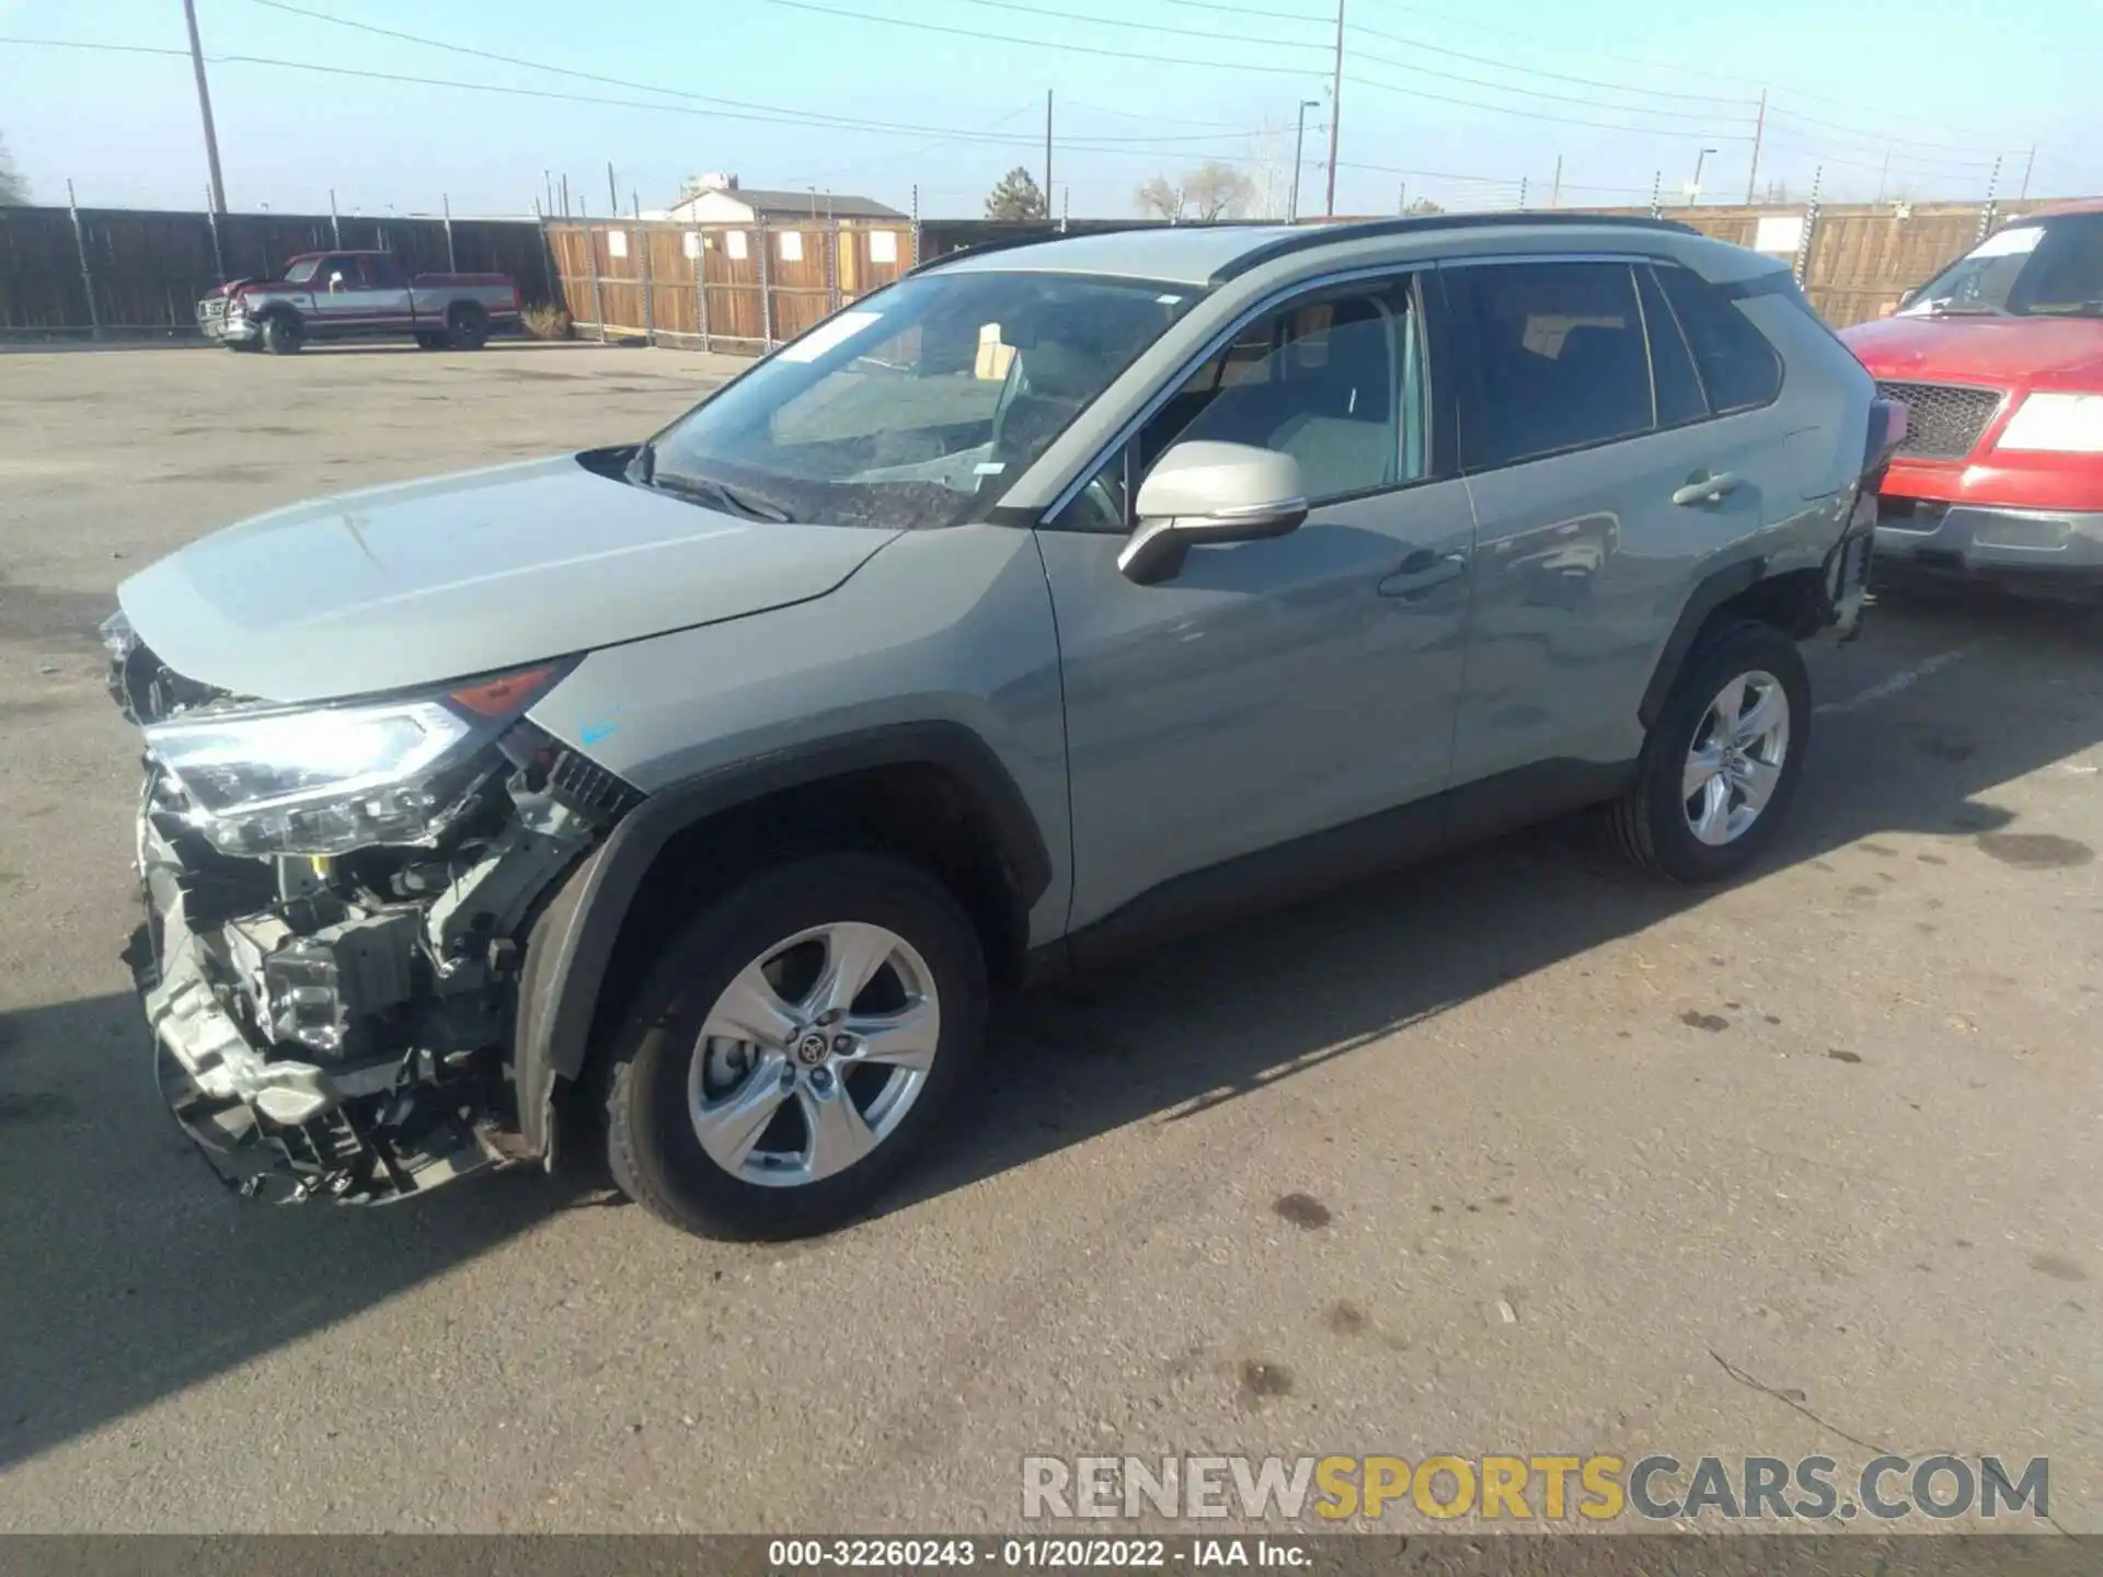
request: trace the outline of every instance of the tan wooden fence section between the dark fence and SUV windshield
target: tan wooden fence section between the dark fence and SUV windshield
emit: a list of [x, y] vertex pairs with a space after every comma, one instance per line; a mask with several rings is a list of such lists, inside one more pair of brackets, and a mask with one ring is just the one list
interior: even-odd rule
[[547, 250], [583, 334], [765, 351], [911, 269], [915, 235], [906, 219], [555, 219]]

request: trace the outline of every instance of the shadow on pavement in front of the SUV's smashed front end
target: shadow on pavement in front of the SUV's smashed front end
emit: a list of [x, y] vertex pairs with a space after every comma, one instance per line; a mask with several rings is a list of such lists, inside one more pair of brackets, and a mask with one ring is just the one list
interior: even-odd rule
[[0, 1013], [0, 1468], [469, 1264], [589, 1184], [244, 1203], [160, 1104], [135, 997]]

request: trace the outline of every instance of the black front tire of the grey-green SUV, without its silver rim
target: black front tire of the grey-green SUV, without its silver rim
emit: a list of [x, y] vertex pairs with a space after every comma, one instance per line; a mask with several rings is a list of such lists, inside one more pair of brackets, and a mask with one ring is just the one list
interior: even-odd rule
[[[869, 921], [927, 963], [942, 1028], [927, 1083], [898, 1127], [831, 1177], [774, 1188], [719, 1167], [688, 1117], [700, 1028], [732, 978], [803, 929]], [[951, 892], [904, 860], [818, 854], [765, 871], [711, 902], [679, 931], [627, 1005], [606, 1062], [606, 1161], [614, 1184], [673, 1226], [719, 1238], [797, 1238], [862, 1215], [913, 1161], [978, 1062], [986, 965]]]

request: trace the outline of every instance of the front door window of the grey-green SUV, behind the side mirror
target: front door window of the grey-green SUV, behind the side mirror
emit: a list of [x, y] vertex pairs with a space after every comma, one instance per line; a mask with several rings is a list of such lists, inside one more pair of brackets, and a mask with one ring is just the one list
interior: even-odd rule
[[1308, 503], [1426, 475], [1424, 336], [1407, 282], [1302, 299], [1249, 322], [1155, 412], [1054, 521], [1123, 532], [1136, 486], [1188, 442], [1253, 444], [1300, 460]]

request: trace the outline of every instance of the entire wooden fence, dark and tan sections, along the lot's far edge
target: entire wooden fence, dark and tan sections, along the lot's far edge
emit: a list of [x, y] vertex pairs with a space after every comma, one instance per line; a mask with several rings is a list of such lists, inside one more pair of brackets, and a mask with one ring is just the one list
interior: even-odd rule
[[[1661, 212], [1788, 259], [1834, 328], [1899, 294], [2044, 202], [1762, 204]], [[1073, 233], [1148, 221], [1073, 221]], [[1321, 223], [1321, 221], [1312, 221]], [[196, 334], [198, 299], [225, 278], [271, 275], [294, 252], [387, 248], [416, 273], [509, 273], [578, 330], [763, 351], [921, 257], [1058, 233], [1064, 223], [812, 219], [688, 225], [662, 219], [370, 219], [128, 208], [0, 208], [0, 334]]]

